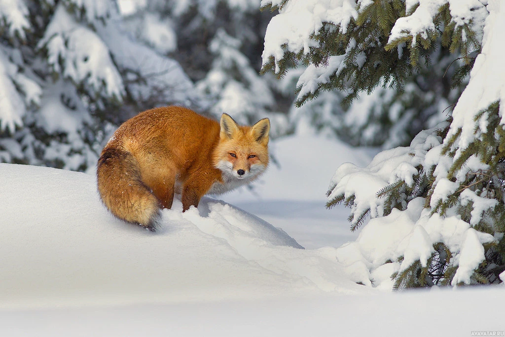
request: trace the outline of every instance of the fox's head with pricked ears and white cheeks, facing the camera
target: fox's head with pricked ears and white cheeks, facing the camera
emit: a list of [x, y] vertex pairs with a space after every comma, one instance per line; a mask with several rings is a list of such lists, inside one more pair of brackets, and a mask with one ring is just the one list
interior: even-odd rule
[[268, 165], [269, 119], [263, 118], [253, 126], [241, 126], [223, 114], [220, 124], [214, 166], [222, 171], [225, 180], [257, 178]]

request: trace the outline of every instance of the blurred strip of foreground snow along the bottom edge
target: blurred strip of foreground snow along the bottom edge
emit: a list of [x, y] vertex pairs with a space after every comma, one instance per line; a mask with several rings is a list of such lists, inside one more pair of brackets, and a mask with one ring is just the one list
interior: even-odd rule
[[[504, 301], [502, 288], [486, 287], [380, 296], [54, 308], [2, 312], [0, 332], [23, 337], [471, 336], [472, 331], [501, 333]], [[434, 312], [434, 303], [443, 304], [443, 319]], [[471, 310], [476, 303], [485, 303], [486, 310]]]

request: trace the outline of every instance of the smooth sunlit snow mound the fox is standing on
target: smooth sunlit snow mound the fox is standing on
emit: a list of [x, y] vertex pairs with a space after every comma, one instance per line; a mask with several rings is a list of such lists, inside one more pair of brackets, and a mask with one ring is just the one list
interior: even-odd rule
[[0, 164], [0, 307], [266, 299], [372, 291], [335, 249], [304, 250], [284, 231], [204, 198], [164, 211], [160, 233], [100, 203], [94, 176]]

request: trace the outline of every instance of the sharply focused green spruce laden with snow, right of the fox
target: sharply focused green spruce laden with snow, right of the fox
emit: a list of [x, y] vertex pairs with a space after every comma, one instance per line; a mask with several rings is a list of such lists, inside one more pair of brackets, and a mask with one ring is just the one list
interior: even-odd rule
[[[349, 103], [378, 86], [401, 90], [437, 41], [459, 53], [453, 80], [469, 73], [470, 78], [452, 116], [420, 132], [409, 147], [379, 153], [365, 168], [340, 166], [327, 206], [350, 207], [352, 230], [372, 218], [357, 242], [339, 253], [365, 270], [364, 284], [389, 275], [396, 288], [505, 280], [502, 2], [264, 0], [262, 5], [279, 9], [267, 29], [263, 70], [283, 75], [295, 62], [304, 63], [300, 105], [323, 90], [338, 89]], [[427, 71], [433, 67], [425, 65]]]

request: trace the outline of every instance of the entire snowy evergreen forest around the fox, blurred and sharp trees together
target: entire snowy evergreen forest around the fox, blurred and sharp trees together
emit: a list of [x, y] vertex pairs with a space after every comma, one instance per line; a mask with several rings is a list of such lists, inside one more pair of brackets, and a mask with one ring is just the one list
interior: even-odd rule
[[0, 0], [0, 15], [1, 162], [91, 173], [116, 127], [156, 106], [268, 117], [274, 139], [383, 150], [328, 191], [351, 228], [372, 218], [357, 251], [385, 237], [349, 255], [357, 282], [505, 278], [498, 0]]

